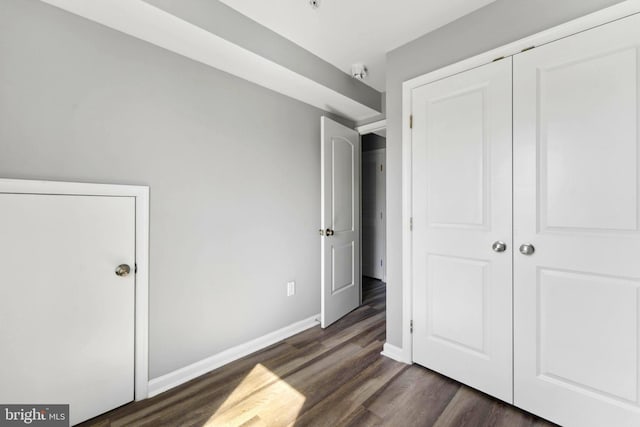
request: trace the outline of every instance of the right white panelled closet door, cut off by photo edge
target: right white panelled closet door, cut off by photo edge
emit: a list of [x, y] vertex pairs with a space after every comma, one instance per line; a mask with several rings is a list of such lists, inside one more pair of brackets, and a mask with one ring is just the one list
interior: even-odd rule
[[640, 426], [640, 16], [514, 59], [516, 405]]

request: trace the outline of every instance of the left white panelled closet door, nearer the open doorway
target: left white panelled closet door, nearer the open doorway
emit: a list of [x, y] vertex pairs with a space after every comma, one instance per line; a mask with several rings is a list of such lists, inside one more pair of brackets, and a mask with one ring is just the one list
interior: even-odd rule
[[511, 59], [415, 89], [412, 112], [413, 360], [511, 402]]

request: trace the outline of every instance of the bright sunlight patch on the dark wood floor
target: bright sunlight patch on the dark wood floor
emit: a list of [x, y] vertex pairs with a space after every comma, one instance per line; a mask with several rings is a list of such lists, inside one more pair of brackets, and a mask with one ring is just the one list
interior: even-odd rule
[[[267, 387], [255, 392], [265, 384]], [[295, 422], [305, 396], [257, 364], [204, 426], [287, 425]]]

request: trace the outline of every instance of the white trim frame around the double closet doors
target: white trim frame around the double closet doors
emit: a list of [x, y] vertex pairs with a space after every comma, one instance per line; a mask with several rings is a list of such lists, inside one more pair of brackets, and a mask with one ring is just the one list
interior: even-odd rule
[[[393, 348], [393, 351], [385, 351], [383, 354], [400, 362], [413, 363], [411, 334], [413, 318], [411, 93], [413, 89], [636, 13], [640, 13], [640, 0], [626, 0], [402, 83], [402, 347]], [[385, 344], [385, 349], [387, 346], [388, 344]]]

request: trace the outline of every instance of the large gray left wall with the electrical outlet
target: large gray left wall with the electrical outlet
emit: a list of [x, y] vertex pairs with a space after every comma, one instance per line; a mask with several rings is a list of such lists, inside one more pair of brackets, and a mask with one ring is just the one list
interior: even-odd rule
[[151, 378], [319, 312], [322, 114], [0, 2], [0, 177], [151, 187]]

